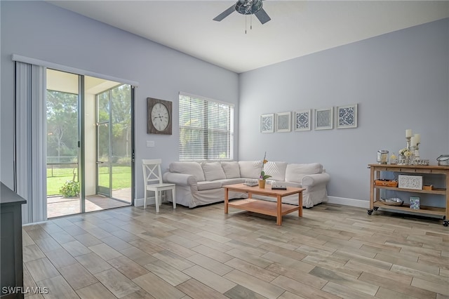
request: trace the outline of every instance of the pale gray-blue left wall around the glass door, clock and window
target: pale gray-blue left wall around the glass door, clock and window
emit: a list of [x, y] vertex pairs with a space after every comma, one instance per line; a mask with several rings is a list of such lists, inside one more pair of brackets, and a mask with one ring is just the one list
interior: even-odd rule
[[[139, 83], [135, 90], [137, 198], [143, 197], [141, 159], [161, 158], [163, 168], [178, 159], [179, 91], [234, 103], [238, 128], [238, 74], [43, 1], [0, 4], [0, 178], [8, 187], [13, 186], [13, 53]], [[147, 97], [173, 101], [173, 135], [147, 134]], [[154, 140], [156, 146], [146, 147], [146, 140]]]

